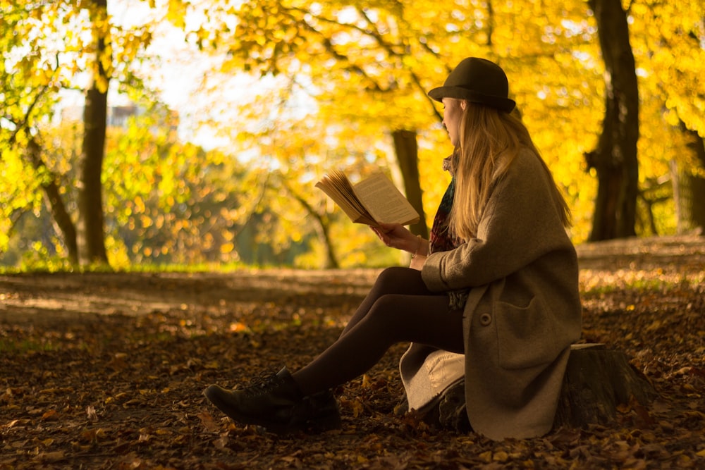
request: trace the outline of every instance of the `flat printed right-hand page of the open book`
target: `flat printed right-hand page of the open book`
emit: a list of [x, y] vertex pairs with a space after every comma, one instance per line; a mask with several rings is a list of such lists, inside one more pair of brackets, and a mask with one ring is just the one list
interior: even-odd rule
[[375, 221], [408, 225], [419, 221], [419, 214], [384, 173], [374, 173], [353, 186]]

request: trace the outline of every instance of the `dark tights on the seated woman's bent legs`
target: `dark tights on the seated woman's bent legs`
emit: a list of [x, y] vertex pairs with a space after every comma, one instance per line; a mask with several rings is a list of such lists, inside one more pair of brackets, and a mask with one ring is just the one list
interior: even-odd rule
[[319, 357], [293, 374], [304, 395], [362, 375], [397, 342], [418, 342], [463, 352], [462, 310], [448, 310], [448, 295], [431, 292], [421, 272], [382, 271], [350, 323]]

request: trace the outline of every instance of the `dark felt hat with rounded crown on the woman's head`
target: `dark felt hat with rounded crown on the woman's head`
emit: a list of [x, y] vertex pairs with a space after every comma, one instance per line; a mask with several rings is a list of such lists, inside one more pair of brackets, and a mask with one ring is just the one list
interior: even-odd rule
[[431, 89], [429, 97], [436, 101], [465, 99], [508, 113], [516, 106], [515, 101], [509, 99], [509, 82], [504, 70], [494, 62], [477, 57], [460, 61], [442, 87]]

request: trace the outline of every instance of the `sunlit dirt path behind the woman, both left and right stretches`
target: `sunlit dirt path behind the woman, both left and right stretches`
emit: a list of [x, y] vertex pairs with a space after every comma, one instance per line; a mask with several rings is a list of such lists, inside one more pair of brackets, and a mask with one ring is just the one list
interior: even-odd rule
[[[583, 271], [705, 271], [705, 237], [613, 240], [577, 247]], [[0, 276], [0, 322], [53, 322], [85, 316], [286, 302], [315, 295], [321, 307], [359, 299], [376, 269], [236, 273], [74, 273]]]

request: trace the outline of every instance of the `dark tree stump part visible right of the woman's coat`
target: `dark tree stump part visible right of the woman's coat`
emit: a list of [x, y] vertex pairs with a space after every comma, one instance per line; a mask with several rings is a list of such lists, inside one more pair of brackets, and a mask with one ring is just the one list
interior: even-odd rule
[[602, 344], [572, 345], [554, 428], [605, 424], [617, 408], [636, 400], [646, 406], [658, 395], [644, 374], [621, 351]]

